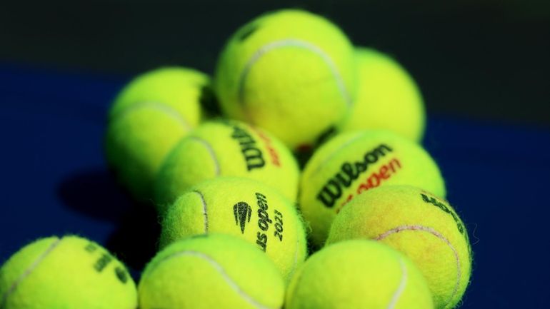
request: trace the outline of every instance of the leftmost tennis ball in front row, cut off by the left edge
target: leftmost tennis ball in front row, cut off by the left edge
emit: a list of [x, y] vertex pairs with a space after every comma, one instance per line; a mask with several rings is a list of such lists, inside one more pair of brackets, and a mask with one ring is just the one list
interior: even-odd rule
[[0, 308], [137, 308], [134, 280], [97, 243], [41, 238], [0, 268]]

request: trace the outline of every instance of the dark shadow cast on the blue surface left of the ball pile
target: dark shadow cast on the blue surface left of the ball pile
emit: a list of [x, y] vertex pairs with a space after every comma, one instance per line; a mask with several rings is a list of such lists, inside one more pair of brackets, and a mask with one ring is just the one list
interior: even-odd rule
[[108, 171], [69, 176], [61, 182], [58, 193], [71, 210], [116, 223], [105, 246], [132, 270], [142, 270], [156, 253], [160, 225], [155, 209], [131, 201]]

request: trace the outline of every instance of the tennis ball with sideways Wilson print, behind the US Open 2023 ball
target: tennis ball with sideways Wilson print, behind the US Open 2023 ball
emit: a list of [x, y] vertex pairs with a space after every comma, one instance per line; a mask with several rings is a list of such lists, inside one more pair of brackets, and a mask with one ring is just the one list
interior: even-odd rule
[[296, 201], [299, 168], [283, 143], [239, 121], [213, 121], [191, 131], [166, 157], [156, 179], [159, 212], [190, 186], [217, 176], [261, 181]]

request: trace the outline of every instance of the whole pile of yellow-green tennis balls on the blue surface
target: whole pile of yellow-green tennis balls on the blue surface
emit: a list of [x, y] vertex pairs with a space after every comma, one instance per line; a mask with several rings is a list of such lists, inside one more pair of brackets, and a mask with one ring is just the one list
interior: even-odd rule
[[107, 161], [162, 226], [137, 287], [93, 241], [42, 238], [0, 269], [0, 308], [455, 308], [472, 252], [424, 123], [390, 56], [259, 16], [213, 78], [156, 69], [114, 100]]

